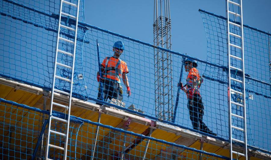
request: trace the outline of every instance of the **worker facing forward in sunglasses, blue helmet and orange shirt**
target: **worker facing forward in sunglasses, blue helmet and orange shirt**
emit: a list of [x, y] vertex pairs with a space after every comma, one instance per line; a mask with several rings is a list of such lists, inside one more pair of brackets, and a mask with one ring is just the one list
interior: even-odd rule
[[[120, 55], [124, 51], [123, 42], [115, 42], [113, 46], [113, 51], [113, 57], [106, 57], [101, 63], [102, 77], [100, 77], [100, 73], [97, 72], [97, 81], [101, 81], [104, 84], [103, 98], [105, 102], [108, 98], [110, 100], [112, 98], [115, 98], [116, 100], [122, 99], [122, 87], [120, 85], [120, 79], [122, 79], [124, 85], [126, 85], [128, 97], [131, 94], [128, 78], [126, 76], [126, 73], [129, 72], [127, 64], [123, 60], [120, 60]], [[100, 89], [97, 99], [101, 100]], [[96, 104], [101, 105], [101, 103]]]

